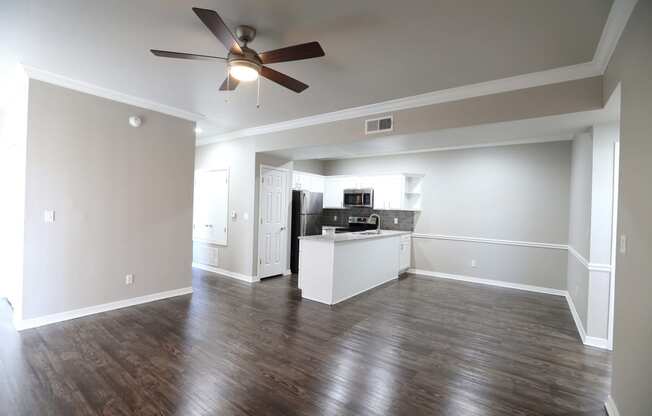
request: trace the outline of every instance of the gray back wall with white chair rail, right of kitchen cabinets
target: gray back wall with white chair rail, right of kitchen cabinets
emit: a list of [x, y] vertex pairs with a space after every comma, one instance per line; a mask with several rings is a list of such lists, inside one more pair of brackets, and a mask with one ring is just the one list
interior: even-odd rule
[[[415, 233], [566, 244], [570, 158], [565, 141], [334, 160], [324, 171], [425, 174]], [[566, 289], [564, 250], [427, 238], [413, 243], [417, 269]]]

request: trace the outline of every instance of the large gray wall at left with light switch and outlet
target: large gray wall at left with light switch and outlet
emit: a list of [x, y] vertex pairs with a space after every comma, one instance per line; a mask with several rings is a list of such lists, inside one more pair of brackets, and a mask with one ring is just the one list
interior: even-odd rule
[[30, 81], [25, 319], [191, 286], [193, 127]]

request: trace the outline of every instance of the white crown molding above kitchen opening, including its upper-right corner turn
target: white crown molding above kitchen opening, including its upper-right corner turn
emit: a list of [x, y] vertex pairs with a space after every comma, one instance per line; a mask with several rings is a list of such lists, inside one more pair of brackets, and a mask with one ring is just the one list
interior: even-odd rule
[[458, 101], [466, 98], [481, 97], [485, 95], [600, 76], [604, 74], [607, 65], [609, 64], [611, 55], [618, 45], [620, 35], [625, 29], [627, 21], [629, 20], [637, 1], [638, 0], [614, 0], [591, 62], [532, 72], [529, 74], [517, 75], [514, 77], [477, 84], [464, 85], [461, 87], [383, 101], [376, 104], [347, 108], [344, 110], [207, 136], [198, 139], [197, 146], [205, 146], [243, 137], [276, 133], [301, 127], [315, 126], [318, 124], [332, 123], [372, 115], [375, 116], [382, 113]]

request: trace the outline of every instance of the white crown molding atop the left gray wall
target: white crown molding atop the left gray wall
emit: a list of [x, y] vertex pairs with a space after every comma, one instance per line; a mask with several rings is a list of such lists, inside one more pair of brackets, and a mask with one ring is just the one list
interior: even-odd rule
[[160, 104], [145, 98], [136, 97], [134, 95], [124, 94], [119, 91], [100, 87], [99, 85], [84, 81], [78, 81], [63, 75], [45, 71], [43, 69], [38, 69], [27, 65], [22, 65], [22, 67], [25, 71], [25, 74], [27, 74], [30, 79], [44, 81], [50, 84], [58, 85], [60, 87], [91, 94], [97, 97], [106, 98], [123, 104], [133, 105], [147, 110], [156, 111], [170, 116], [179, 117], [185, 120], [196, 122], [206, 119], [206, 116], [199, 113], [194, 113], [191, 111], [182, 110], [180, 108], [171, 107], [169, 105]]

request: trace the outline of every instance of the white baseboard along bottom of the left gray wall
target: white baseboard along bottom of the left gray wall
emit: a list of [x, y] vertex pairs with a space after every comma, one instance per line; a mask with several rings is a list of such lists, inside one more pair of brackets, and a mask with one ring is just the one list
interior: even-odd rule
[[182, 296], [192, 293], [192, 287], [168, 290], [165, 292], [152, 293], [151, 295], [139, 296], [137, 298], [119, 300], [116, 302], [103, 303], [101, 305], [89, 306], [87, 308], [74, 309], [71, 311], [45, 315], [38, 318], [15, 320], [14, 327], [17, 331], [36, 328], [43, 325], [50, 325], [56, 322], [68, 321], [70, 319], [81, 318], [83, 316], [94, 315], [96, 313], [108, 312], [115, 309], [122, 309], [129, 306], [140, 305], [143, 303], [154, 302], [157, 300]]

